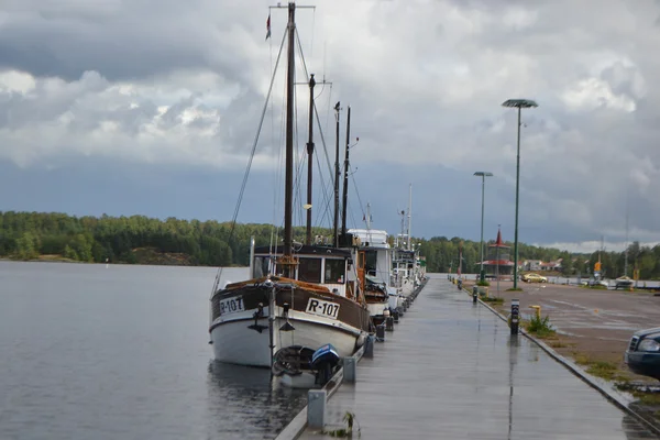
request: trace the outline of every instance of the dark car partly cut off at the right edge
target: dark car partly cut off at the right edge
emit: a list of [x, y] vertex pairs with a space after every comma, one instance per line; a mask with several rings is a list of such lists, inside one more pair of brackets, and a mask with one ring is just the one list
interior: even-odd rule
[[635, 332], [624, 361], [632, 373], [660, 381], [660, 327]]

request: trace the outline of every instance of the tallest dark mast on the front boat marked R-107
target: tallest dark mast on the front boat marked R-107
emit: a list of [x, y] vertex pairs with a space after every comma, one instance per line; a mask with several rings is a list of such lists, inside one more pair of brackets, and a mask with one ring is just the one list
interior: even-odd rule
[[288, 65], [286, 75], [286, 174], [284, 186], [284, 275], [292, 277], [294, 248], [293, 230], [293, 196], [294, 196], [294, 77], [295, 77], [295, 33], [296, 33], [296, 3], [288, 4]]

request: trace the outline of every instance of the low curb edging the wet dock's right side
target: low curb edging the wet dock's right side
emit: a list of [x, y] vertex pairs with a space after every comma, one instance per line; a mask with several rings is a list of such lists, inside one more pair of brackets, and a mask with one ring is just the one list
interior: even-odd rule
[[[472, 293], [468, 292], [468, 289], [463, 289], [463, 292], [465, 292], [466, 294], [470, 295], [470, 297], [472, 297]], [[499, 319], [505, 321], [508, 326], [508, 319], [505, 316], [503, 316], [499, 311], [495, 310], [493, 307], [488, 306], [486, 302], [482, 301], [479, 298], [477, 298], [477, 301], [482, 306], [484, 306], [488, 310], [491, 310], [493, 314], [495, 314], [495, 316], [497, 316]], [[651, 430], [653, 433], [660, 435], [660, 427], [658, 427], [656, 425], [657, 422], [653, 419], [647, 418], [642, 414], [630, 408], [629, 407], [629, 405], [631, 404], [630, 399], [625, 397], [623, 394], [616, 392], [614, 388], [612, 388], [612, 385], [609, 384], [609, 382], [588, 374], [587, 372], [582, 370], [576, 363], [574, 363], [573, 361], [569, 360], [568, 358], [559, 354], [550, 345], [548, 345], [543, 341], [538, 340], [537, 338], [530, 336], [525, 330], [519, 329], [518, 331], [525, 338], [529, 339], [531, 342], [534, 342], [538, 346], [540, 346], [541, 350], [543, 350], [546, 353], [548, 353], [550, 355], [550, 358], [552, 358], [553, 360], [556, 360], [557, 362], [562, 364], [566, 370], [569, 370], [575, 376], [578, 376], [583, 382], [585, 382], [587, 385], [590, 385], [592, 388], [594, 388], [598, 393], [601, 393], [607, 400], [612, 402], [619, 409], [622, 409], [625, 413], [627, 413], [628, 415], [632, 416], [636, 420], [641, 422], [646, 428]]]

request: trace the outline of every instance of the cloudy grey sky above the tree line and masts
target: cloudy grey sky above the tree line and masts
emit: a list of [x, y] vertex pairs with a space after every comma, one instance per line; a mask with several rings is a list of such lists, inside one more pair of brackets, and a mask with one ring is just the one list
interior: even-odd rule
[[[272, 10], [265, 40], [274, 4], [4, 0], [0, 210], [230, 220], [286, 26]], [[369, 202], [373, 227], [396, 233], [413, 185], [414, 235], [479, 240], [473, 173], [487, 170], [485, 235], [501, 224], [513, 240], [517, 113], [501, 105], [527, 98], [539, 107], [522, 111], [520, 241], [593, 250], [604, 237], [616, 250], [627, 230], [660, 242], [659, 1], [316, 7], [297, 10], [308, 72], [331, 82], [315, 94], [315, 224], [329, 226], [319, 125], [333, 161], [341, 101], [342, 155], [349, 106], [360, 138], [349, 227], [363, 227]], [[240, 222], [282, 222], [276, 72]], [[296, 88], [302, 151], [309, 91]]]

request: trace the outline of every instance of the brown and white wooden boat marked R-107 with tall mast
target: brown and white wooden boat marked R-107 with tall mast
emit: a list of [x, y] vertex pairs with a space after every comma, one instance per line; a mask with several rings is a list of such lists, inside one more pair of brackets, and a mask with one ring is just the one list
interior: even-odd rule
[[271, 248], [251, 244], [249, 279], [218, 288], [217, 276], [209, 332], [221, 362], [272, 367], [283, 348], [326, 344], [348, 356], [370, 330], [364, 294], [350, 276], [355, 271], [351, 252], [293, 240], [295, 11], [288, 3], [284, 240]]

